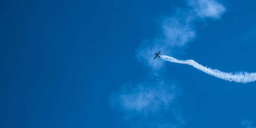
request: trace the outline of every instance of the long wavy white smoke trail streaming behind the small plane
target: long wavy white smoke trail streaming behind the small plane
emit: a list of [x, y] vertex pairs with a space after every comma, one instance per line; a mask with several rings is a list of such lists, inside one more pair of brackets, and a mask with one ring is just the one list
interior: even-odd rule
[[181, 63], [181, 64], [193, 66], [194, 68], [201, 70], [206, 74], [209, 74], [209, 75], [212, 75], [212, 76], [215, 76], [217, 78], [221, 78], [221, 79], [224, 79], [227, 81], [247, 83], [247, 82], [253, 82], [256, 80], [256, 73], [247, 73], [247, 72], [226, 73], [226, 72], [219, 71], [217, 69], [210, 69], [210, 68], [204, 67], [192, 59], [179, 60], [174, 57], [170, 57], [170, 56], [166, 56], [166, 55], [161, 55], [160, 58], [163, 60], [166, 60], [166, 61], [170, 61], [170, 62]]

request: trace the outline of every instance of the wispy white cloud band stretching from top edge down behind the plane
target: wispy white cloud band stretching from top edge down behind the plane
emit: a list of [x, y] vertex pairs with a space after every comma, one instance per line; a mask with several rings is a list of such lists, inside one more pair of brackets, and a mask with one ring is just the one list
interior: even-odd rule
[[[137, 58], [153, 70], [164, 66], [163, 61], [154, 61], [152, 57], [159, 50], [164, 54], [175, 54], [182, 51], [185, 45], [193, 41], [196, 36], [195, 22], [209, 18], [220, 19], [225, 7], [214, 0], [188, 0], [188, 7], [178, 9], [176, 14], [162, 19], [161, 33], [142, 42], [137, 50]], [[179, 52], [178, 52], [179, 53]]]

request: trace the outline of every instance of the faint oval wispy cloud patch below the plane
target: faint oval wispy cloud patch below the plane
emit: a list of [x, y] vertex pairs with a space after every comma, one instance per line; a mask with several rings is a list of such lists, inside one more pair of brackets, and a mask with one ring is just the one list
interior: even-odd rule
[[[157, 85], [151, 83], [141, 83], [137, 86], [128, 86], [115, 95], [113, 105], [119, 106], [123, 112], [134, 111], [147, 113], [158, 111], [161, 106], [168, 106], [172, 103], [175, 93], [174, 86], [164, 85], [158, 82]], [[116, 102], [115, 102], [116, 101]]]

